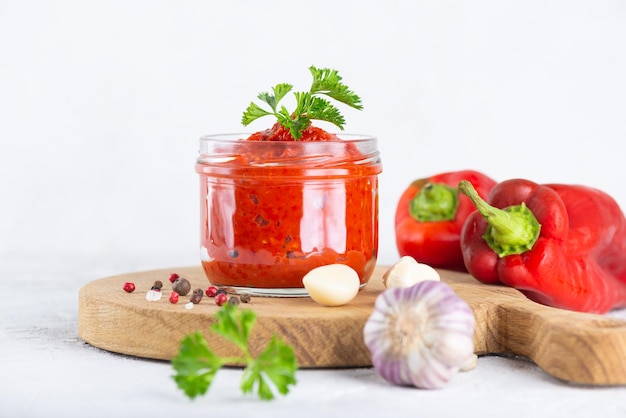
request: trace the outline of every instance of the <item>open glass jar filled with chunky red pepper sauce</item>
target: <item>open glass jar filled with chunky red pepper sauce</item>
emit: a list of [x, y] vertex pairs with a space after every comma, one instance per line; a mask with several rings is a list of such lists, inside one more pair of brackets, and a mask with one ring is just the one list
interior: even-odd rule
[[307, 296], [311, 269], [347, 264], [365, 286], [378, 253], [376, 138], [200, 138], [201, 262], [240, 294]]

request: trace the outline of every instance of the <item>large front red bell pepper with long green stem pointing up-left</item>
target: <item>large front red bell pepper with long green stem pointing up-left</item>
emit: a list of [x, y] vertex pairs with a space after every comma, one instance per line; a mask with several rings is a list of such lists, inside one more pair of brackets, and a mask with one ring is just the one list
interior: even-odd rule
[[478, 209], [461, 234], [465, 265], [476, 279], [573, 311], [626, 307], [626, 220], [609, 195], [523, 179], [499, 183], [488, 203], [469, 182], [459, 190]]

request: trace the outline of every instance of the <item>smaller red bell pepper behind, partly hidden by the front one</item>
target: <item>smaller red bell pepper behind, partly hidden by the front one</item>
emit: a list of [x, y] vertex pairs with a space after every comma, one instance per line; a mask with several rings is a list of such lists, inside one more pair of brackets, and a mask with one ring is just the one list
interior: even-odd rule
[[472, 170], [441, 173], [415, 180], [404, 191], [396, 208], [396, 246], [400, 256], [409, 255], [432, 267], [465, 271], [461, 253], [461, 228], [475, 210], [459, 195], [459, 181], [470, 181], [487, 196], [494, 180]]

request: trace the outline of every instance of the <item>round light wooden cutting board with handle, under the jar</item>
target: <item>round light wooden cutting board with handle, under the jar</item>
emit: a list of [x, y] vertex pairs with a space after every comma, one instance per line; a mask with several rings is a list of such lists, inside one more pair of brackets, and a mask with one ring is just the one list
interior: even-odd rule
[[[323, 307], [309, 298], [253, 297], [242, 308], [254, 309], [257, 322], [251, 335], [254, 353], [277, 334], [294, 347], [300, 367], [367, 367], [370, 353], [363, 342], [363, 326], [376, 296], [384, 290], [377, 267], [370, 283], [349, 304]], [[204, 297], [185, 309], [189, 295], [168, 302], [170, 273], [187, 278], [194, 288], [209, 283], [202, 269], [184, 267], [107, 277], [88, 283], [79, 292], [78, 333], [85, 342], [116, 353], [170, 360], [180, 340], [201, 331], [218, 355], [237, 349], [209, 330], [219, 309]], [[534, 303], [515, 289], [485, 285], [468, 274], [439, 270], [476, 316], [476, 354], [516, 354], [534, 361], [552, 376], [594, 385], [626, 384], [626, 321], [571, 312]], [[160, 301], [149, 302], [146, 292], [155, 280], [164, 283]], [[128, 294], [124, 282], [137, 290]]]

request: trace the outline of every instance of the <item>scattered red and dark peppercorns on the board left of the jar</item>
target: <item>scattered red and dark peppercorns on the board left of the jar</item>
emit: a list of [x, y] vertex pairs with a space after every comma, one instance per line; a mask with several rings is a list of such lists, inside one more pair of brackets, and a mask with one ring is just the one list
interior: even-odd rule
[[[172, 283], [172, 291], [168, 301], [172, 304], [178, 303], [181, 296], [186, 296], [191, 291], [191, 283], [184, 277], [180, 277], [177, 273], [172, 273], [169, 277], [170, 283]], [[156, 280], [150, 290], [146, 293], [146, 300], [155, 302], [161, 299], [161, 290], [163, 288], [163, 282]], [[136, 289], [135, 283], [125, 282], [122, 289], [126, 293], [133, 293]], [[239, 303], [250, 303], [250, 295], [228, 295], [228, 292], [224, 288], [218, 288], [210, 285], [206, 289], [197, 288], [191, 292], [189, 303], [185, 305], [187, 309], [193, 308], [193, 305], [199, 304], [204, 296], [213, 298], [217, 306], [222, 306], [226, 303], [230, 305], [239, 305]]]

